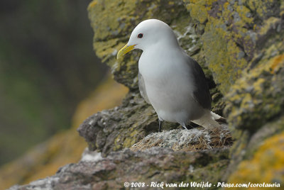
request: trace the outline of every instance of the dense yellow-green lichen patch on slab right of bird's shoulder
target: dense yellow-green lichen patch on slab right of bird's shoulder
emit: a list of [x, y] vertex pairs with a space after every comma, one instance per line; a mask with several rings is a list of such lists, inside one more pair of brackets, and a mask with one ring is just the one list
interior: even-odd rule
[[241, 68], [247, 64], [246, 60], [237, 58], [239, 47], [219, 19], [210, 18], [202, 35], [202, 42], [207, 65], [220, 84], [219, 89], [225, 93], [241, 74]]

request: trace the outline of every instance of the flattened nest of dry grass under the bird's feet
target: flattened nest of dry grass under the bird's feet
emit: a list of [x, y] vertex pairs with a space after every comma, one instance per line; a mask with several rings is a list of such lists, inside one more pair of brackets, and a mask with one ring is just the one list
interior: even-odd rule
[[214, 147], [228, 147], [233, 143], [231, 133], [226, 125], [220, 128], [204, 129], [193, 128], [191, 130], [176, 129], [151, 133], [143, 140], [132, 145], [131, 150], [145, 150], [150, 147], [170, 147], [178, 151], [207, 150]]

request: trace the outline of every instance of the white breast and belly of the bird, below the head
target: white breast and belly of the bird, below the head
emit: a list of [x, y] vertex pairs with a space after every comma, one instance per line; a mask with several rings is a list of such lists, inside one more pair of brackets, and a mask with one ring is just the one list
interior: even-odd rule
[[183, 56], [180, 51], [149, 49], [139, 60], [148, 99], [165, 121], [186, 123], [200, 115], [200, 106], [192, 98], [190, 65]]

